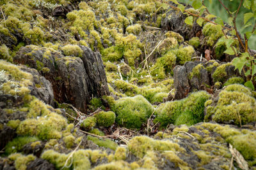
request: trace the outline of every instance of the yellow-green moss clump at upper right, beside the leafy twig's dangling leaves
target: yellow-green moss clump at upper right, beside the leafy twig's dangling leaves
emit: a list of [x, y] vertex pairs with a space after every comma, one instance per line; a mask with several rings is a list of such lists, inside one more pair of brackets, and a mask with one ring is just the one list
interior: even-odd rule
[[207, 39], [207, 45], [209, 46], [213, 46], [221, 36], [224, 36], [221, 31], [221, 25], [214, 25], [210, 22], [204, 25], [202, 33], [204, 34], [205, 39]]

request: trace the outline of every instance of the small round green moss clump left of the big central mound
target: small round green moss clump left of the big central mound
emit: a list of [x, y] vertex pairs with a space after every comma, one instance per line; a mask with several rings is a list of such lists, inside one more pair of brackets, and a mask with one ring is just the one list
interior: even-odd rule
[[97, 125], [109, 127], [115, 123], [116, 115], [113, 111], [100, 111], [94, 115], [97, 119]]

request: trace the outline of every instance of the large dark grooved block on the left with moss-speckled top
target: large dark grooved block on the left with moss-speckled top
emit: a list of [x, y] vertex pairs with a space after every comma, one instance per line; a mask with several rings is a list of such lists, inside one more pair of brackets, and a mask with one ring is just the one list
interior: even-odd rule
[[86, 46], [79, 47], [83, 51], [82, 56], [65, 57], [49, 48], [25, 46], [20, 48], [13, 60], [37, 69], [40, 75], [49, 80], [54, 99], [58, 102], [71, 103], [79, 110], [86, 111], [92, 96], [108, 95], [109, 90], [100, 54]]

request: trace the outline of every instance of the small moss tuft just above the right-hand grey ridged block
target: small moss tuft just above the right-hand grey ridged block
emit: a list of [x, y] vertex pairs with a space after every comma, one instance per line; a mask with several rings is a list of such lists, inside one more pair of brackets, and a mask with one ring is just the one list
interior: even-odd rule
[[183, 65], [186, 61], [190, 61], [193, 53], [195, 53], [195, 50], [193, 46], [185, 46], [185, 47], [179, 47], [179, 49], [174, 50], [174, 53], [177, 57], [176, 62], [177, 64]]

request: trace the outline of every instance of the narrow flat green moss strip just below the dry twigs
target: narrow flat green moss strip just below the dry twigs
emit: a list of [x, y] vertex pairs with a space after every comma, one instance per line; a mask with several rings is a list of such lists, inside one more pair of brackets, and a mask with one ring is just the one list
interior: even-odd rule
[[115, 143], [114, 141], [111, 141], [111, 139], [99, 139], [97, 137], [93, 137], [88, 135], [87, 139], [89, 141], [93, 141], [93, 143], [95, 143], [96, 145], [98, 145], [99, 147], [104, 147], [104, 148], [109, 148], [111, 150], [116, 150], [116, 147], [118, 146], [117, 143]]

